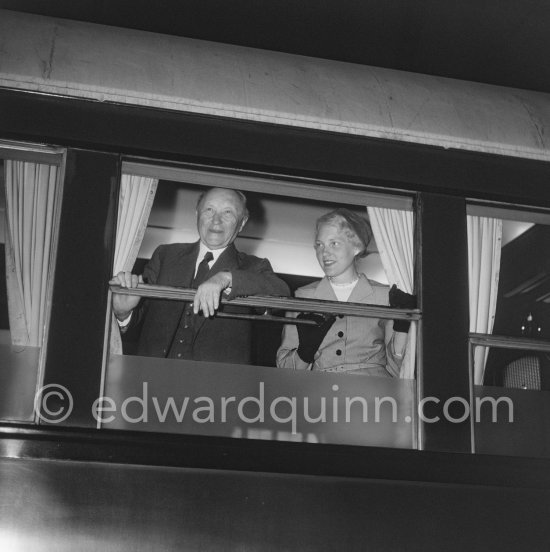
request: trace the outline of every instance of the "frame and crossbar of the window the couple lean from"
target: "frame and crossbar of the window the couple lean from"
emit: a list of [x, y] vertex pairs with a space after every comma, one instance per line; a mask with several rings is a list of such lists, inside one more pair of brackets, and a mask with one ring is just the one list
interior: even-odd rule
[[[229, 167], [212, 167], [197, 165], [192, 163], [174, 163], [157, 159], [134, 158], [123, 156], [121, 159], [120, 175], [131, 174], [142, 177], [158, 178], [160, 180], [170, 180], [184, 184], [200, 185], [205, 188], [224, 187], [234, 188], [245, 192], [256, 192], [266, 196], [281, 196], [308, 199], [311, 201], [333, 202], [336, 205], [354, 205], [364, 208], [368, 206], [382, 206], [391, 209], [400, 209], [411, 211], [415, 217], [413, 243], [415, 254], [415, 267], [418, 263], [419, 233], [417, 231], [415, 208], [416, 194], [405, 190], [391, 190], [376, 186], [365, 186], [351, 182], [338, 180], [322, 180], [313, 178], [300, 178], [298, 176], [290, 177], [279, 175], [277, 173], [264, 173], [259, 171], [235, 170]], [[119, 182], [120, 184], [120, 182]], [[116, 223], [116, 221], [115, 221]], [[116, 225], [113, 230], [116, 235]], [[416, 268], [415, 268], [416, 270]], [[415, 282], [415, 286], [419, 286]], [[128, 290], [119, 289], [118, 286], [109, 286], [109, 301], [106, 315], [106, 328], [104, 337], [104, 356], [101, 371], [101, 391], [103, 396], [107, 366], [109, 360], [110, 343], [110, 320], [111, 320], [111, 301], [110, 297], [113, 290], [121, 291], [125, 294], [137, 294], [142, 297], [164, 298], [171, 300], [192, 301], [195, 290], [181, 288], [167, 288], [166, 286], [151, 286], [140, 284], [137, 293], [130, 293]], [[417, 290], [418, 292], [418, 290]], [[230, 302], [222, 298], [222, 303], [248, 307], [263, 307], [266, 309], [306, 311], [306, 312], [327, 312], [337, 314], [359, 315], [362, 317], [377, 317], [382, 319], [403, 319], [417, 322], [417, 347], [415, 356], [415, 366], [417, 374], [421, 374], [422, 359], [419, 355], [420, 347], [418, 341], [421, 335], [422, 311], [420, 309], [395, 309], [391, 307], [381, 307], [366, 304], [342, 304], [337, 301], [322, 300], [304, 300], [294, 298], [277, 297], [246, 297], [236, 298]], [[279, 322], [280, 323], [280, 322]], [[415, 377], [414, 382], [415, 397], [418, 396], [419, 377]], [[419, 446], [419, 428], [418, 419], [413, 417], [415, 445]], [[97, 429], [101, 429], [101, 423], [97, 422]]]

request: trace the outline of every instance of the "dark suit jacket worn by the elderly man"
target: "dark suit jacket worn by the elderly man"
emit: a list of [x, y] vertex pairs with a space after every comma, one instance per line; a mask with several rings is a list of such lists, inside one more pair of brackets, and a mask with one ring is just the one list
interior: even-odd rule
[[[190, 288], [199, 254], [199, 242], [159, 246], [145, 266], [145, 283]], [[245, 295], [290, 295], [285, 282], [279, 279], [267, 259], [237, 251], [233, 244], [219, 256], [206, 279], [217, 272], [232, 274], [231, 293], [227, 299]], [[147, 300], [139, 307], [143, 318], [138, 354], [166, 357], [186, 303], [173, 300]], [[225, 312], [243, 312], [242, 308], [224, 307]], [[246, 312], [246, 311], [244, 311]], [[247, 364], [250, 362], [251, 323], [230, 318], [194, 317], [193, 360]]]

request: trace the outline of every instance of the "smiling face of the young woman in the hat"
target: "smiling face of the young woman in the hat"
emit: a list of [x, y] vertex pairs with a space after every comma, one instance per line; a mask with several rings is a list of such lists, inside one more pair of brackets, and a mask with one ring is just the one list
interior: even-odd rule
[[359, 249], [346, 234], [333, 224], [319, 227], [315, 239], [315, 253], [324, 273], [332, 279], [344, 281], [355, 276], [355, 256]]

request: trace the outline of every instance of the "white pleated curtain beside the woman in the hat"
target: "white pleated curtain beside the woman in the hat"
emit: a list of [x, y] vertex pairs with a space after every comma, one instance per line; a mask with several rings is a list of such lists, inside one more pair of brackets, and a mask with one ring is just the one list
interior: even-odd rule
[[[374, 239], [390, 285], [414, 292], [414, 217], [411, 211], [367, 207]], [[416, 322], [411, 323], [401, 378], [413, 379], [416, 357]]]

